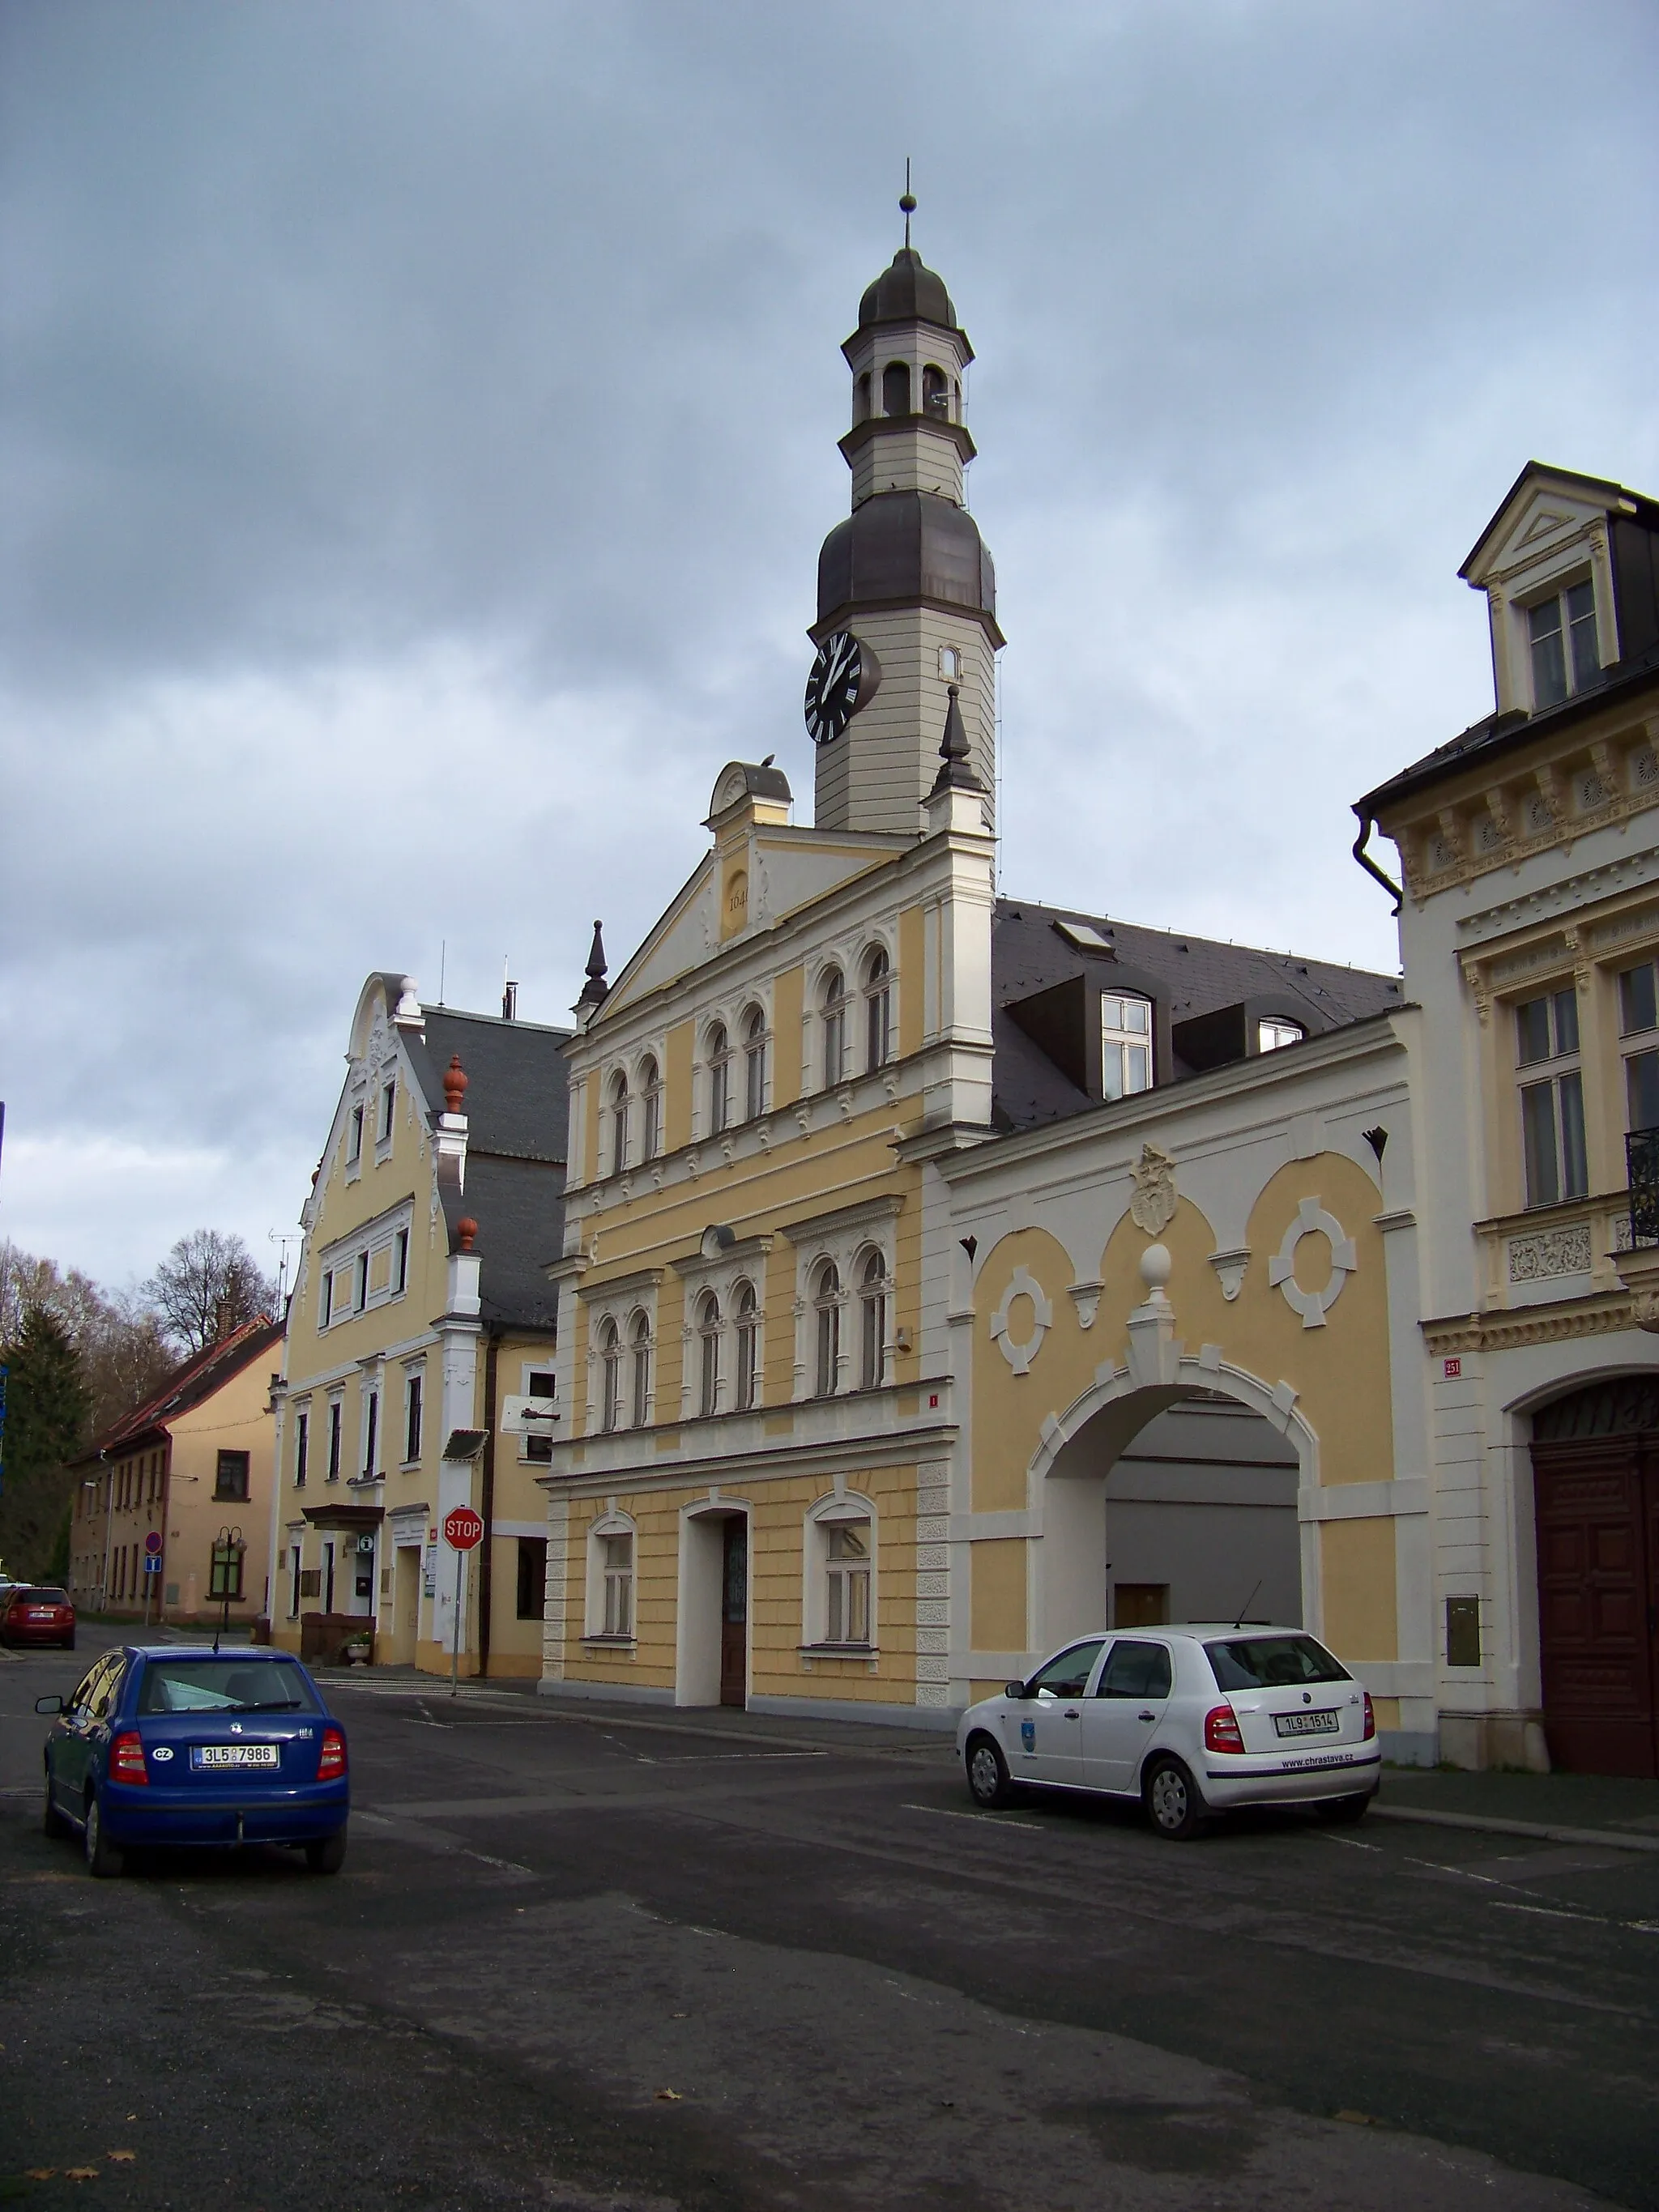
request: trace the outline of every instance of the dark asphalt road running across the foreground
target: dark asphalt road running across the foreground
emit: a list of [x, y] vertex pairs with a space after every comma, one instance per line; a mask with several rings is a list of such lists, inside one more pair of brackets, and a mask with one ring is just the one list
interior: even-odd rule
[[1659, 1854], [1179, 1847], [980, 1816], [931, 1743], [332, 1677], [341, 1876], [93, 1882], [40, 1834], [33, 1699], [97, 1641], [0, 1655], [0, 2199], [1659, 2208]]

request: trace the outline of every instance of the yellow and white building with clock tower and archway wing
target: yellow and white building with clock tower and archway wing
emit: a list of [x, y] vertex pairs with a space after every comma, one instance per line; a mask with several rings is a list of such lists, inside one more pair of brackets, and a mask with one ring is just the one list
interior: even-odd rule
[[542, 1688], [949, 1725], [1073, 1628], [1267, 1601], [1425, 1756], [1400, 987], [995, 896], [971, 347], [905, 248], [843, 354], [816, 823], [721, 770], [566, 1046]]

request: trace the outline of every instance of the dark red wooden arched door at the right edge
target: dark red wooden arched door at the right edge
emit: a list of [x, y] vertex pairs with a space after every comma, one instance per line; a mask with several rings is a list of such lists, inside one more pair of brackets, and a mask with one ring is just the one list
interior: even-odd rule
[[1533, 1411], [1537, 1637], [1551, 1761], [1659, 1774], [1659, 1376]]

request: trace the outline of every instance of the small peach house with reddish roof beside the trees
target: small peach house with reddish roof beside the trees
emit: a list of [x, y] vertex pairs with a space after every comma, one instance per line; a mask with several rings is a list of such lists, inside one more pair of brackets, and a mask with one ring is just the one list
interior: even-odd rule
[[[281, 1323], [250, 1321], [192, 1354], [75, 1464], [75, 1606], [155, 1626], [246, 1624], [265, 1610], [281, 1338]], [[215, 1546], [228, 1613], [212, 1597]]]

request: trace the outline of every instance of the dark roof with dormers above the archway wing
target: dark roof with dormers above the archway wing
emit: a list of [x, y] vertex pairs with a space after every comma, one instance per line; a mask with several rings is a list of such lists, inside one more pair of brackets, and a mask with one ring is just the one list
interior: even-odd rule
[[[1110, 942], [1110, 951], [1079, 951], [1057, 922], [1079, 922]], [[1237, 1006], [1243, 1000], [1272, 1002], [1272, 1011], [1301, 1022], [1310, 1035], [1343, 1029], [1405, 1004], [1396, 975], [1272, 953], [1254, 945], [1219, 945], [1212, 938], [1172, 929], [1141, 929], [1104, 914], [1075, 907], [1037, 907], [1022, 898], [998, 898], [991, 922], [991, 1035], [995, 1044], [993, 1121], [998, 1128], [1035, 1128], [1075, 1113], [1099, 1108], [1020, 1029], [1006, 1006], [1033, 998], [1073, 975], [1086, 975], [1110, 991], [1148, 993], [1168, 1022]], [[1294, 1046], [1290, 1046], [1294, 1051]], [[1177, 1082], [1192, 1075], [1179, 1055]]]

